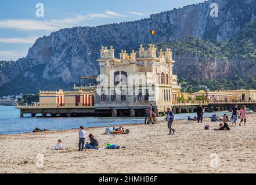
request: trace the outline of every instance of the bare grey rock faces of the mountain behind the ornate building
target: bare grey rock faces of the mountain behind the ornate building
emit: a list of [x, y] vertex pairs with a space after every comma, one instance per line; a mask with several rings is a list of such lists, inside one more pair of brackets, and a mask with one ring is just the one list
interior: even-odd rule
[[[210, 16], [212, 2], [219, 5], [218, 17]], [[96, 59], [102, 45], [113, 45], [118, 54], [121, 49], [136, 49], [140, 43], [167, 43], [187, 35], [229, 40], [246, 23], [254, 20], [255, 15], [255, 0], [215, 0], [153, 14], [150, 18], [133, 22], [61, 29], [37, 39], [27, 57], [16, 62], [0, 62], [0, 95], [53, 90], [60, 88], [61, 84], [71, 87], [81, 75], [96, 75], [99, 70]], [[150, 29], [156, 30], [157, 34], [150, 35]], [[212, 79], [222, 76], [222, 70], [228, 70], [225, 64], [217, 65], [218, 60], [214, 58], [193, 58], [193, 54], [187, 55], [178, 50], [175, 55], [181, 58], [175, 64], [174, 72], [179, 72], [178, 75], [193, 73], [188, 77]], [[188, 69], [188, 62], [198, 64], [194, 66], [196, 70]], [[216, 67], [219, 73], [210, 74]]]

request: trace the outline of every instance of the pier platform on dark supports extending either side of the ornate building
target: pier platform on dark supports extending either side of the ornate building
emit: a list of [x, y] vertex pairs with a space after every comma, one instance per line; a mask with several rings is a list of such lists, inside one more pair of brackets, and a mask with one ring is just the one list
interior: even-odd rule
[[[232, 110], [233, 106], [237, 104], [239, 108], [246, 105], [247, 108], [256, 112], [256, 102], [198, 102], [198, 103], [180, 103], [170, 106], [174, 113], [194, 113], [197, 106], [201, 104], [205, 108], [205, 112]], [[110, 109], [97, 109], [94, 106], [75, 106], [65, 105], [16, 105], [16, 109], [20, 109], [20, 117], [24, 117], [24, 114], [31, 114], [31, 117], [35, 117], [37, 114], [41, 114], [42, 117], [51, 115], [53, 117], [60, 116], [144, 116], [146, 107], [126, 107], [126, 108], [110, 108]], [[165, 112], [160, 112], [159, 116], [165, 116]]]

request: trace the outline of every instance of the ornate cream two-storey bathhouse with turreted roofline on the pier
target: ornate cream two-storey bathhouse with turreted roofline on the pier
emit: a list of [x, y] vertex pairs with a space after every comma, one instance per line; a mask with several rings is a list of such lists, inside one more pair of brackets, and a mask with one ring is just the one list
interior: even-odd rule
[[121, 50], [120, 57], [115, 58], [113, 46], [102, 47], [98, 62], [96, 111], [111, 112], [112, 116], [139, 116], [152, 103], [155, 112], [164, 114], [181, 94], [177, 77], [172, 75], [175, 61], [171, 49], [157, 52], [153, 44], [147, 49], [140, 45], [137, 53]]

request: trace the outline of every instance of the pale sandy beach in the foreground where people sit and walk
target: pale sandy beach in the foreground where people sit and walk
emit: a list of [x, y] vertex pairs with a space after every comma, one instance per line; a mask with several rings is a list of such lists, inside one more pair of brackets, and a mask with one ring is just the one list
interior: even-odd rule
[[[176, 120], [171, 136], [166, 122], [124, 125], [129, 135], [86, 128], [100, 149], [84, 151], [77, 151], [78, 129], [0, 135], [0, 173], [256, 173], [255, 120], [255, 113], [248, 114], [245, 127], [229, 123], [230, 131], [214, 131], [219, 123], [208, 118], [203, 124]], [[53, 150], [57, 139], [64, 150]], [[107, 143], [125, 149], [107, 150]]]

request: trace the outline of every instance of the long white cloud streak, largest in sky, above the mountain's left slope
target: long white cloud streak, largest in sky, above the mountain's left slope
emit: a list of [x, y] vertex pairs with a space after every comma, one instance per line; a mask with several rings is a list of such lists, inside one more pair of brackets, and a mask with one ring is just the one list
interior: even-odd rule
[[118, 18], [126, 17], [123, 14], [106, 10], [104, 13], [89, 13], [75, 17], [51, 20], [31, 19], [0, 19], [0, 28], [18, 29], [21, 31], [57, 31], [61, 28], [69, 28], [80, 25], [85, 20], [95, 18]]

